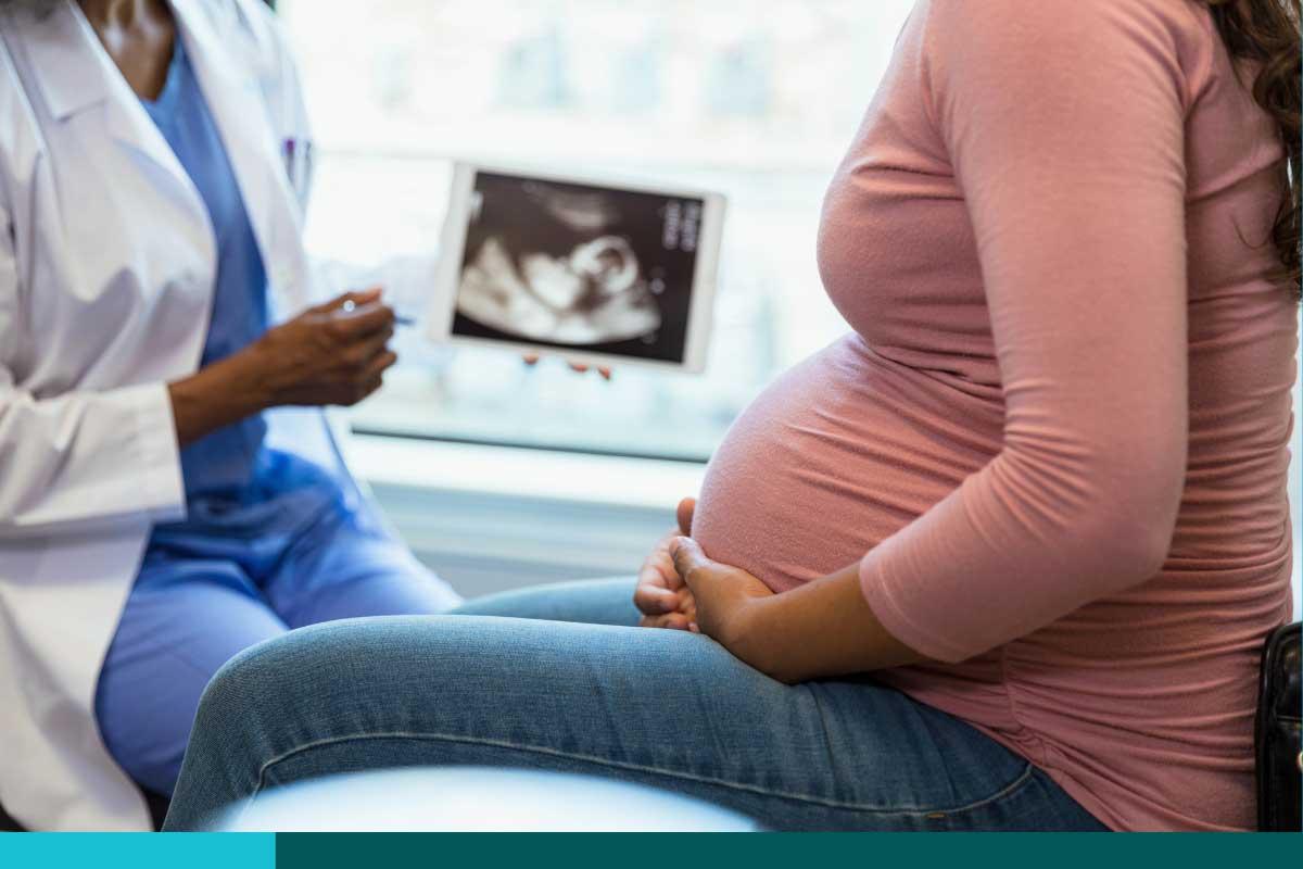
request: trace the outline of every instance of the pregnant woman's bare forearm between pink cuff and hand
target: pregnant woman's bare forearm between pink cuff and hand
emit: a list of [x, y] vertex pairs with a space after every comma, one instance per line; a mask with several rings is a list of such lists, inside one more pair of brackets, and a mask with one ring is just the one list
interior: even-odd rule
[[925, 661], [873, 615], [859, 564], [757, 602], [745, 633], [735, 654], [788, 684]]

